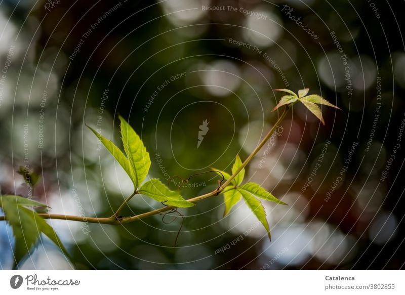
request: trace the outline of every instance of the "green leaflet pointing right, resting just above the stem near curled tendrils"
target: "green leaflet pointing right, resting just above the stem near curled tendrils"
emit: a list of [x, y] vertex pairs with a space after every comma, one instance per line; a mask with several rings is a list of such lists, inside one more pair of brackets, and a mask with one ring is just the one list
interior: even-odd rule
[[159, 202], [165, 202], [166, 205], [176, 207], [192, 207], [193, 203], [186, 201], [177, 192], [170, 190], [157, 178], [145, 182], [138, 190], [140, 194], [146, 195]]

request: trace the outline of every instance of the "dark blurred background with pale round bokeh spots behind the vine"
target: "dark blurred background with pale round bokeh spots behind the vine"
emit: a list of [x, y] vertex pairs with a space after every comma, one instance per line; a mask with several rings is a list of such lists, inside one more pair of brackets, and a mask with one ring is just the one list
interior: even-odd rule
[[[150, 178], [230, 172], [277, 120], [274, 89], [310, 88], [322, 125], [295, 105], [249, 164], [272, 241], [223, 197], [125, 226], [50, 220], [76, 269], [402, 269], [405, 53], [402, 1], [32, 1], [0, 4], [0, 192], [51, 213], [110, 216], [133, 187], [85, 124], [119, 145], [124, 116]], [[208, 128], [198, 140], [200, 125]], [[20, 165], [41, 176], [31, 190]], [[202, 174], [191, 198], [216, 188]], [[161, 207], [137, 196], [123, 215]], [[174, 214], [175, 215], [175, 214]], [[165, 218], [163, 220], [163, 218]], [[173, 218], [172, 218], [173, 219]], [[14, 238], [0, 222], [0, 268]], [[22, 269], [71, 269], [47, 239]]]

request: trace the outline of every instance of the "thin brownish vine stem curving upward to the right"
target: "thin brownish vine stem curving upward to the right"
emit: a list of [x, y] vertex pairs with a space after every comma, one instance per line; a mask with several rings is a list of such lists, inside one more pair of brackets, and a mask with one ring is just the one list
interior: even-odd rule
[[[275, 122], [273, 127], [270, 129], [270, 131], [266, 134], [266, 136], [262, 139], [262, 141], [258, 144], [258, 146], [254, 149], [254, 151], [246, 158], [246, 160], [241, 164], [241, 166], [238, 168], [238, 170], [235, 171], [220, 187], [215, 189], [212, 192], [206, 193], [204, 195], [199, 195], [194, 198], [188, 199], [187, 201], [196, 203], [201, 200], [207, 199], [209, 197], [216, 196], [221, 193], [221, 191], [236, 177], [236, 175], [239, 174], [239, 172], [245, 168], [245, 166], [252, 160], [252, 158], [259, 152], [259, 150], [265, 145], [265, 143], [270, 139], [270, 137], [273, 135], [274, 131], [278, 127], [278, 125], [281, 123], [281, 121], [285, 118], [289, 111], [289, 106], [287, 106], [284, 109], [284, 112], [280, 115], [278, 120]], [[164, 213], [166, 211], [170, 211], [174, 208], [175, 206], [166, 206], [163, 208], [151, 210], [146, 213], [138, 214], [135, 216], [130, 216], [130, 217], [118, 217], [118, 214], [121, 212], [121, 210], [124, 208], [125, 205], [128, 204], [128, 201], [137, 193], [135, 191], [132, 195], [130, 195], [116, 210], [114, 215], [111, 217], [105, 217], [105, 218], [98, 218], [98, 217], [85, 217], [85, 216], [73, 216], [73, 215], [61, 215], [61, 214], [38, 214], [39, 216], [45, 218], [45, 219], [62, 219], [62, 220], [71, 220], [71, 221], [81, 221], [81, 222], [90, 222], [90, 223], [100, 223], [100, 224], [110, 224], [110, 225], [119, 225], [119, 224], [126, 224], [126, 223], [131, 223], [137, 220], [141, 220], [156, 214]], [[7, 220], [5, 216], [0, 216], [0, 221], [2, 220]]]

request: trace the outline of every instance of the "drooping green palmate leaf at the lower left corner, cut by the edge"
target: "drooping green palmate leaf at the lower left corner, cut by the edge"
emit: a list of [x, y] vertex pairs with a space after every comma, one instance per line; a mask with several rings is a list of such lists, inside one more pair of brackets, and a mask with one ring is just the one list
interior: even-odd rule
[[30, 249], [37, 243], [41, 233], [47, 235], [69, 257], [53, 228], [37, 213], [24, 206], [46, 206], [45, 204], [19, 196], [4, 195], [0, 197], [0, 207], [3, 208], [7, 222], [13, 229], [15, 237], [14, 268], [29, 254]]

